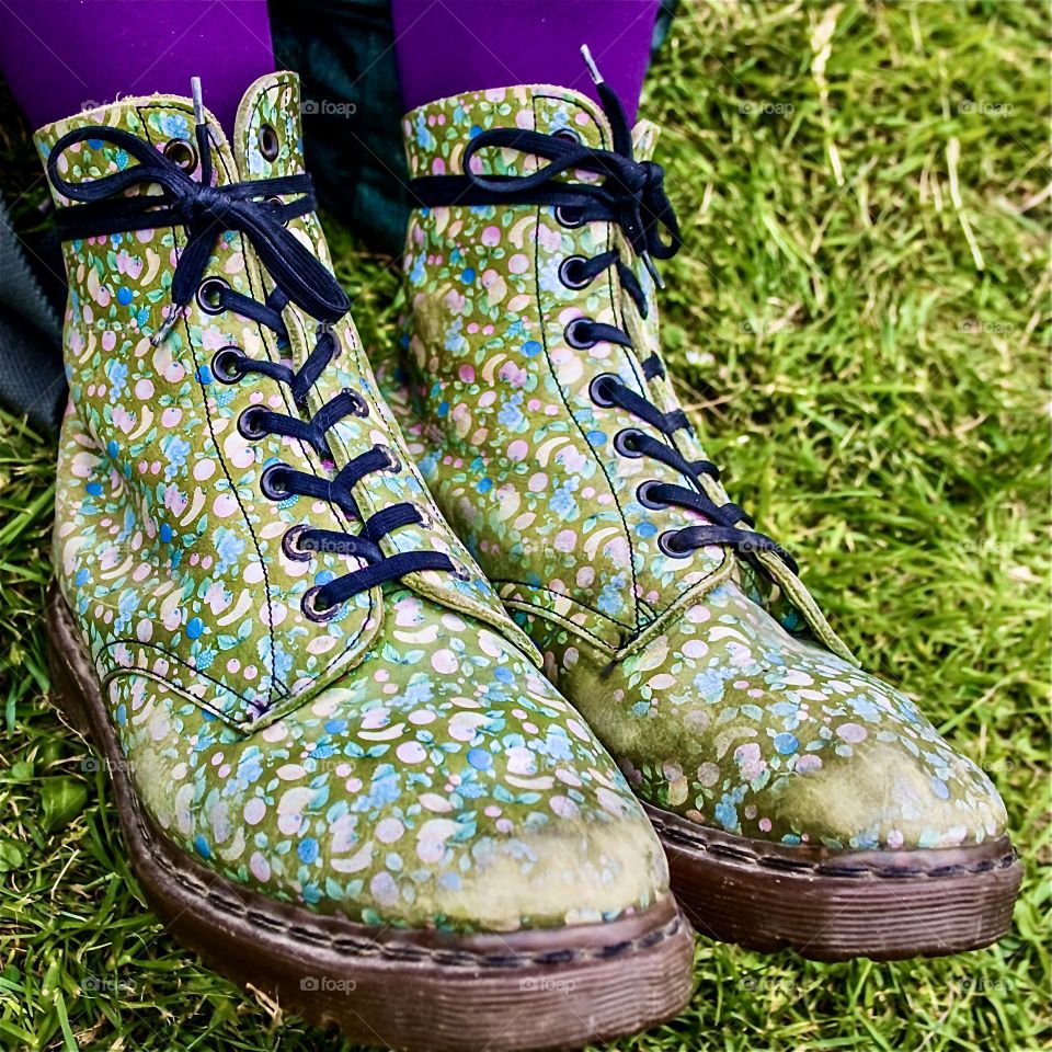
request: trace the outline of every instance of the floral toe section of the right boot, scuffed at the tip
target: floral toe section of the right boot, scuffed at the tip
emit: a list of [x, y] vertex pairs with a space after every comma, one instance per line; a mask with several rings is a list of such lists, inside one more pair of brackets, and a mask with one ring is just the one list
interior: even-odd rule
[[736, 591], [710, 592], [619, 671], [616, 722], [586, 714], [643, 799], [699, 824], [834, 849], [1005, 832], [990, 779], [906, 695]]

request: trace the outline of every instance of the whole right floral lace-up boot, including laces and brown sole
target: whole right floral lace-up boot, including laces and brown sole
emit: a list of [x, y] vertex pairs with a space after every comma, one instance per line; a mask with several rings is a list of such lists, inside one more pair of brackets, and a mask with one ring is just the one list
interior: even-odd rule
[[679, 244], [656, 128], [605, 84], [404, 121], [413, 449], [552, 682], [647, 803], [699, 930], [816, 958], [1005, 933], [1005, 810], [857, 667], [730, 503], [659, 355]]

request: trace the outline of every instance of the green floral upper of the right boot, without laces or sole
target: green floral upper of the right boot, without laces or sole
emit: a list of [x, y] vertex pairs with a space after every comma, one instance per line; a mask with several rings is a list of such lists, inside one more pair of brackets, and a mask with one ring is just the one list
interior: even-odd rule
[[[574, 92], [468, 93], [405, 117], [411, 173], [459, 173], [467, 144], [493, 127], [609, 148], [604, 116]], [[655, 129], [644, 123], [634, 138], [648, 156]], [[491, 174], [536, 167], [506, 149], [477, 161]], [[611, 247], [636, 265], [645, 321], [613, 267], [584, 288], [560, 276], [568, 259]], [[985, 775], [904, 695], [856, 667], [775, 557], [762, 558], [778, 584], [765, 593], [722, 548], [689, 559], [659, 549], [663, 529], [704, 519], [640, 502], [641, 481], [679, 479], [620, 454], [616, 433], [647, 425], [591, 397], [596, 376], [616, 373], [676, 408], [671, 386], [643, 375], [658, 348], [653, 286], [613, 225], [571, 226], [531, 205], [421, 208], [404, 274], [401, 397], [419, 420], [409, 432], [428, 484], [644, 800], [730, 833], [833, 848], [1003, 832]], [[626, 329], [633, 348], [571, 346], [565, 327], [581, 316]], [[687, 433], [676, 443], [688, 459], [704, 456]]]

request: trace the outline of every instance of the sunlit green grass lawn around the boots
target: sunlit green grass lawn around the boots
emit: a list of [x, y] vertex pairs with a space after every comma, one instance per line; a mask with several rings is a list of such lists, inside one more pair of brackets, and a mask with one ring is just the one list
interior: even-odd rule
[[[699, 942], [687, 1011], [617, 1048], [1049, 1048], [1048, 9], [683, 7], [643, 107], [686, 237], [667, 358], [732, 494], [998, 784], [1027, 872], [1013, 934], [951, 960]], [[10, 117], [0, 140], [37, 203]], [[392, 261], [332, 240], [389, 346]], [[105, 778], [45, 701], [52, 457], [3, 421], [0, 1048], [344, 1048], [142, 906]]]

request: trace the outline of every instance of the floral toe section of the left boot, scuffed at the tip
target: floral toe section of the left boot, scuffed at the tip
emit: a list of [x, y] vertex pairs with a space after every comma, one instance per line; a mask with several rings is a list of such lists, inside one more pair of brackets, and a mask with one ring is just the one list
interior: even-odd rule
[[229, 879], [366, 923], [558, 927], [667, 894], [622, 775], [519, 651], [480, 627], [378, 654], [240, 737], [140, 683], [125, 736], [151, 816]]

